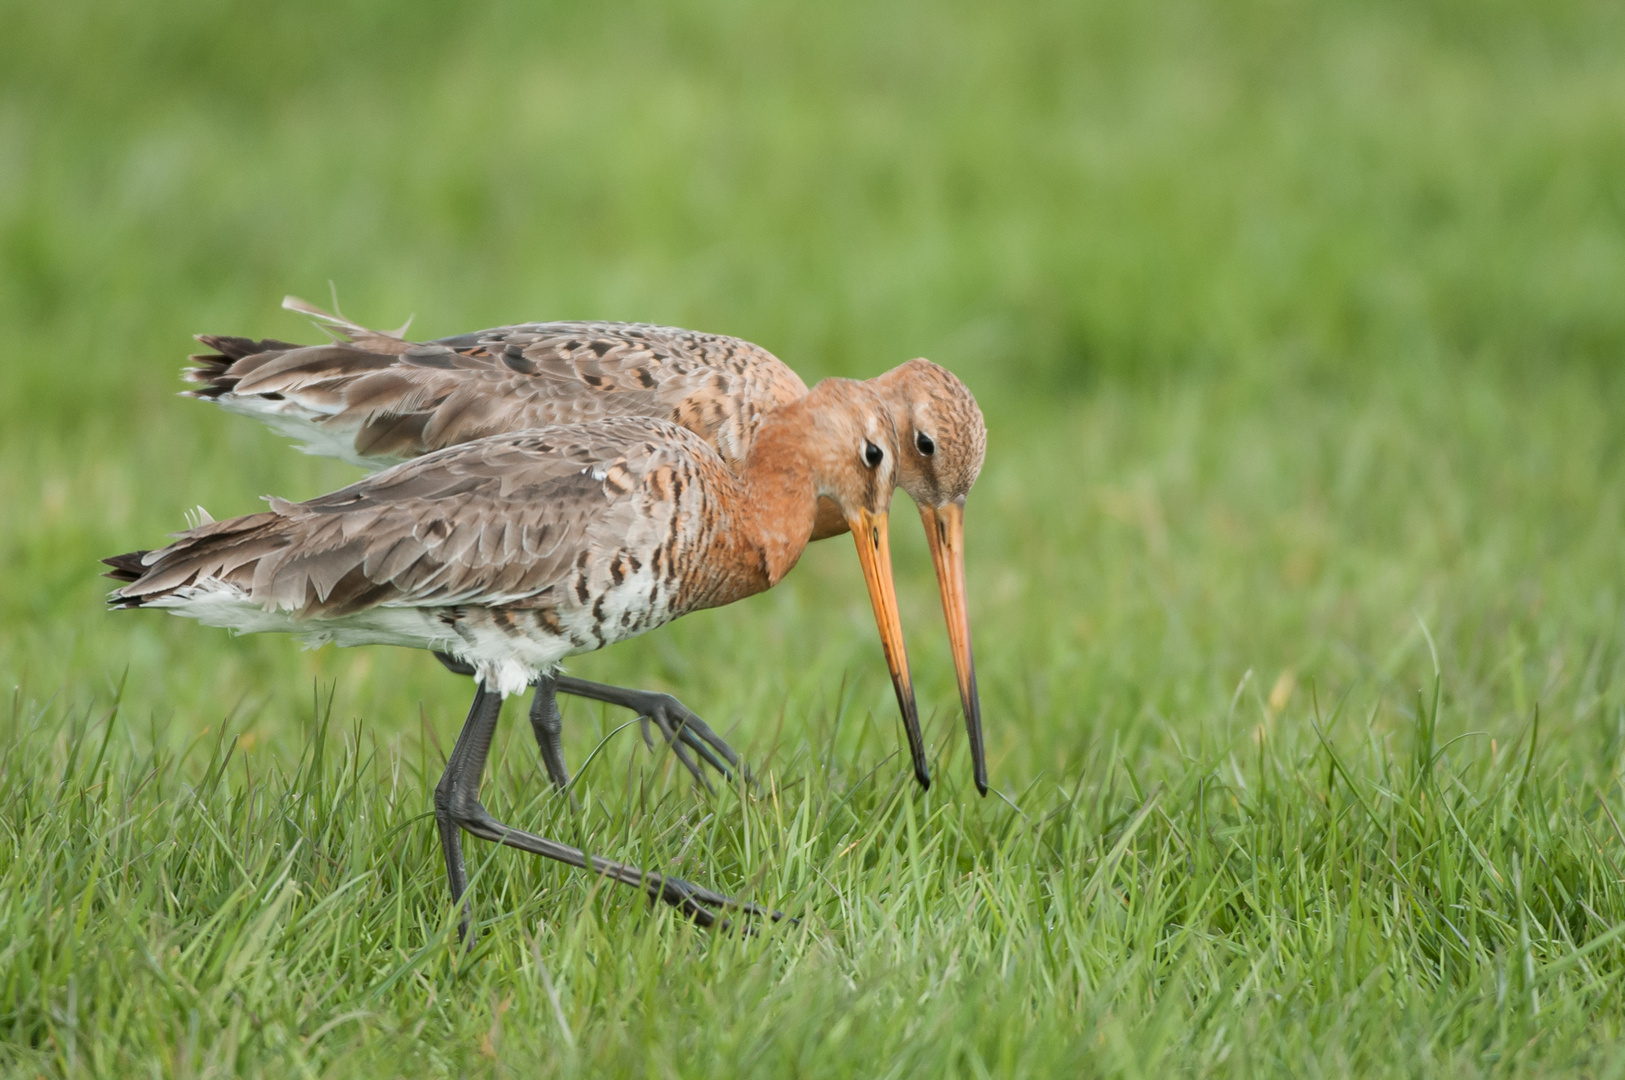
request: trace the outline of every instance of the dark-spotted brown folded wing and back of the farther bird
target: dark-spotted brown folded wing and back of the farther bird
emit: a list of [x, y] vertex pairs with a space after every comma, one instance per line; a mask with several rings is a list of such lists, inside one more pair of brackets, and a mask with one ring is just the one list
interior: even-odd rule
[[315, 453], [374, 468], [613, 416], [682, 424], [738, 468], [759, 417], [806, 393], [749, 341], [671, 326], [523, 323], [413, 344], [336, 325], [354, 341], [200, 338], [216, 352], [193, 357], [187, 378], [202, 387], [190, 393], [258, 416]]

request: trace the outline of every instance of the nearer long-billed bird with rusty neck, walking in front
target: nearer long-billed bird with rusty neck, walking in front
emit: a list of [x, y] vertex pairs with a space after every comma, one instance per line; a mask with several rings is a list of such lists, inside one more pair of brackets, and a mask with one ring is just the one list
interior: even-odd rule
[[[552, 703], [559, 661], [772, 588], [801, 557], [821, 497], [858, 541], [886, 653], [900, 658], [886, 557], [895, 463], [889, 408], [843, 378], [762, 417], [738, 474], [694, 432], [650, 417], [491, 435], [320, 499], [273, 499], [266, 512], [206, 521], [167, 547], [107, 559], [109, 577], [124, 581], [109, 603], [309, 643], [408, 645], [466, 663], [474, 700], [434, 791], [453, 900], [466, 888], [465, 830], [642, 887], [710, 924], [718, 908], [739, 905], [486, 812], [479, 776], [502, 698], [536, 684], [554, 724], [548, 768], [562, 770]], [[907, 680], [899, 687], [912, 713]], [[465, 906], [465, 931], [466, 919]]]

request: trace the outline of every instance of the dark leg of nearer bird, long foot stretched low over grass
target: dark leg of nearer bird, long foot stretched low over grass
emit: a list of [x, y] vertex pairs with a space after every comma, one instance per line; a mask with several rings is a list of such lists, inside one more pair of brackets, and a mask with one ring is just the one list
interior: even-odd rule
[[[479, 776], [486, 768], [486, 757], [491, 754], [491, 736], [496, 732], [497, 716], [502, 711], [500, 695], [488, 690], [484, 684], [474, 692], [474, 703], [468, 708], [468, 719], [463, 723], [457, 745], [445, 763], [445, 775], [434, 788], [434, 819], [440, 827], [440, 849], [445, 853], [445, 870], [452, 880], [452, 898], [463, 900], [468, 888], [468, 875], [463, 870], [463, 849], [457, 830], [507, 845], [544, 859], [556, 859], [570, 866], [578, 866], [593, 874], [601, 874], [622, 885], [632, 885], [648, 893], [650, 900], [678, 908], [700, 926], [712, 926], [718, 919], [718, 909], [736, 908], [746, 914], [764, 914], [782, 919], [777, 911], [767, 911], [751, 903], [741, 903], [708, 888], [700, 888], [692, 882], [665, 874], [650, 874], [627, 866], [590, 856], [580, 848], [562, 845], [520, 828], [510, 828], [491, 817], [491, 812], [479, 802]], [[458, 931], [468, 935], [468, 906], [463, 906], [463, 918]]]

